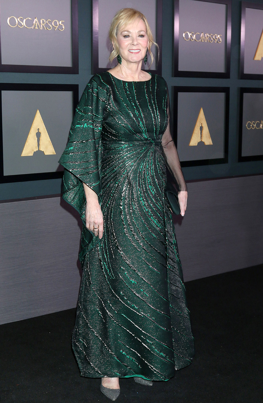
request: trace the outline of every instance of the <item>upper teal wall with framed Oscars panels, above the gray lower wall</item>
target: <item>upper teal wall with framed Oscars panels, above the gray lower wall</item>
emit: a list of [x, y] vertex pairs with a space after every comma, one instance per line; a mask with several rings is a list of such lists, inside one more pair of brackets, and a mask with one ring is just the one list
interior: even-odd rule
[[[97, 14], [95, 12], [96, 5]], [[257, 87], [261, 90], [263, 88], [263, 81], [261, 80], [263, 74], [255, 72], [255, 74], [251, 73], [246, 77], [244, 77], [244, 75], [242, 76], [240, 72], [242, 52], [241, 58], [239, 57], [240, 45], [241, 50], [243, 45], [244, 47], [249, 46], [246, 49], [246, 53], [244, 53], [246, 60], [248, 60], [248, 56], [246, 55], [249, 54], [249, 51], [252, 52], [253, 48], [253, 52], [254, 50], [255, 52], [250, 54], [250, 60], [248, 64], [245, 64], [249, 66], [249, 63], [252, 63], [251, 65], [257, 63], [257, 66], [259, 66], [257, 69], [261, 71], [260, 66], [263, 66], [263, 58], [261, 60], [252, 59], [255, 57], [256, 53], [258, 53], [260, 58], [261, 39], [263, 40], [263, 20], [260, 17], [263, 11], [262, 3], [244, 3], [240, 2], [240, 0], [175, 0], [174, 2], [170, 0], [147, 0], [147, 2], [125, 0], [124, 3], [120, 3], [119, 0], [112, 0], [110, 2], [106, 2], [106, 0], [61, 0], [60, 2], [53, 2], [51, 0], [43, 0], [42, 2], [29, 0], [26, 3], [20, 0], [0, 0], [0, 29], [2, 41], [2, 64], [0, 69], [2, 69], [1, 81], [2, 83], [6, 83], [2, 84], [2, 91], [7, 91], [6, 93], [4, 92], [0, 108], [2, 114], [0, 127], [3, 126], [3, 133], [0, 134], [1, 199], [60, 193], [62, 171], [56, 164], [59, 159], [58, 154], [61, 152], [59, 148], [60, 144], [62, 148], [62, 143], [64, 146], [66, 142], [69, 130], [68, 126], [72, 118], [72, 112], [68, 114], [70, 107], [67, 105], [70, 97], [68, 97], [69, 94], [66, 91], [65, 97], [62, 97], [63, 102], [66, 102], [66, 106], [64, 107], [62, 103], [60, 106], [56, 105], [52, 109], [52, 114], [55, 114], [54, 111], [57, 112], [58, 123], [60, 122], [60, 116], [64, 117], [60, 124], [61, 131], [58, 136], [57, 133], [59, 133], [59, 129], [56, 124], [52, 123], [52, 125], [50, 125], [49, 119], [47, 116], [44, 116], [46, 113], [44, 110], [48, 108], [48, 104], [39, 106], [36, 101], [35, 107], [33, 108], [34, 110], [32, 109], [30, 112], [27, 122], [24, 122], [23, 119], [25, 119], [25, 116], [21, 117], [20, 110], [30, 106], [26, 91], [47, 91], [47, 89], [43, 89], [39, 83], [52, 83], [54, 85], [79, 84], [79, 93], [75, 96], [75, 98], [77, 98], [75, 102], [76, 105], [87, 82], [91, 79], [93, 73], [97, 73], [97, 71], [94, 70], [96, 52], [98, 68], [99, 63], [104, 64], [108, 60], [109, 52], [106, 46], [108, 27], [115, 11], [122, 6], [134, 6], [139, 8], [142, 12], [145, 12], [151, 28], [153, 29], [153, 34], [157, 37], [161, 51], [161, 64], [158, 64], [157, 69], [161, 66], [162, 72], [152, 70], [152, 73], [156, 72], [157, 74], [161, 74], [168, 84], [171, 110], [174, 115], [175, 138], [178, 137], [176, 139], [185, 179], [199, 180], [203, 178], [232, 177], [235, 175], [263, 172], [262, 161], [260, 160], [262, 155], [260, 137], [262, 129], [249, 130], [242, 128], [243, 110], [240, 109], [241, 107], [243, 108], [243, 100], [241, 101], [240, 98], [240, 87]], [[79, 14], [78, 18], [76, 18], [78, 9]], [[58, 21], [58, 23], [56, 21]], [[11, 26], [8, 25], [8, 22]], [[230, 41], [229, 35], [231, 24], [233, 33], [232, 42]], [[25, 25], [29, 28], [26, 28]], [[30, 28], [31, 26], [33, 26], [33, 28]], [[79, 42], [76, 40], [78, 38], [76, 38], [75, 35], [78, 29]], [[178, 30], [177, 33], [176, 29]], [[190, 33], [190, 39], [187, 32]], [[254, 37], [253, 32], [255, 33]], [[7, 34], [11, 35], [9, 39]], [[176, 49], [176, 35], [178, 35], [177, 53], [173, 52], [173, 50]], [[27, 38], [28, 42], [19, 42], [23, 38]], [[44, 42], [43, 38], [46, 38]], [[221, 38], [222, 42], [219, 40]], [[50, 42], [45, 42], [46, 40]], [[97, 48], [93, 46], [94, 40], [97, 40]], [[78, 43], [80, 46], [80, 59], [78, 52], [74, 53], [74, 49], [76, 50], [76, 44], [78, 45]], [[246, 45], [246, 43], [248, 45]], [[23, 48], [23, 46], [26, 47]], [[231, 75], [229, 75], [230, 46]], [[257, 50], [259, 50], [259, 52], [257, 52]], [[176, 58], [176, 54], [179, 63], [177, 63], [177, 68], [179, 66], [181, 70], [178, 70], [178, 74], [174, 76], [176, 64], [173, 65], [173, 62]], [[71, 61], [70, 55], [72, 57]], [[62, 72], [74, 73], [74, 66], [78, 64], [79, 60], [81, 62], [81, 69], [78, 74], [55, 74]], [[100, 69], [104, 71], [108, 68], [107, 65], [105, 65], [104, 67], [100, 67]], [[23, 73], [20, 74], [20, 71], [23, 71]], [[37, 73], [28, 74], [33, 71]], [[17, 73], [11, 75], [10, 72]], [[54, 74], [47, 74], [51, 72]], [[240, 79], [240, 77], [246, 78], [246, 81]], [[12, 88], [10, 87], [11, 84], [7, 84], [10, 82], [12, 82]], [[24, 83], [27, 87], [29, 85], [34, 85], [35, 87], [34, 89], [23, 89], [22, 92], [25, 94], [25, 97], [23, 97], [21, 89], [19, 88], [21, 83]], [[8, 87], [4, 87], [3, 85], [8, 85]], [[179, 92], [181, 94], [174, 98], [172, 96], [172, 90], [178, 85], [180, 85], [181, 91]], [[197, 86], [203, 88], [203, 93], [202, 91], [193, 89], [193, 87]], [[205, 94], [209, 92], [208, 89], [210, 87], [222, 88], [223, 86], [229, 87], [228, 91], [224, 89], [221, 93], [217, 93], [217, 91], [213, 90], [210, 91], [210, 95]], [[198, 105], [197, 107], [197, 105], [192, 105], [192, 101], [189, 100], [189, 105], [191, 104], [192, 106], [187, 112], [186, 103], [184, 103], [185, 109], [183, 108], [182, 98], [187, 98], [190, 94], [187, 94], [187, 91], [182, 91], [182, 87], [190, 88], [188, 92], [191, 92], [193, 97], [212, 97], [212, 93], [215, 93], [214, 96], [216, 100], [209, 101], [211, 102], [209, 110], [207, 110], [205, 102], [202, 102], [202, 105]], [[20, 100], [19, 104], [16, 103], [16, 110], [14, 112], [10, 112], [10, 102], [8, 104], [6, 98], [6, 94], [11, 96], [10, 91], [17, 91], [17, 99]], [[48, 91], [51, 91], [51, 95], [54, 89], [49, 88]], [[63, 92], [64, 90], [60, 89], [59, 91]], [[70, 90], [69, 92], [72, 91]], [[230, 93], [230, 102], [227, 100], [228, 92]], [[250, 92], [253, 93], [253, 91]], [[194, 95], [195, 93], [196, 95]], [[249, 101], [251, 105], [250, 108], [256, 111], [258, 100], [253, 98], [253, 95], [251, 97]], [[246, 96], [244, 97], [244, 108], [245, 98]], [[52, 97], [49, 99], [51, 100], [50, 102], [53, 102]], [[253, 102], [256, 102], [256, 104], [253, 104]], [[223, 104], [225, 105], [224, 107]], [[37, 110], [39, 114], [37, 114]], [[181, 116], [179, 116], [179, 113]], [[9, 116], [9, 114], [13, 116]], [[222, 115], [224, 116], [222, 117]], [[17, 118], [18, 122], [14, 123], [15, 127], [8, 127], [8, 122], [13, 122], [16, 118], [15, 116], [19, 117]], [[185, 119], [182, 119], [182, 116]], [[34, 120], [35, 117], [36, 121]], [[35, 124], [40, 121], [40, 118], [42, 119], [43, 126], [41, 126], [42, 128], [36, 128]], [[207, 127], [205, 127], [201, 121], [203, 118], [205, 118]], [[253, 122], [254, 120], [259, 120], [259, 118], [260, 116], [248, 116], [247, 121]], [[242, 120], [241, 122], [240, 119]], [[23, 130], [21, 129], [22, 122]], [[216, 122], [218, 123], [217, 125]], [[198, 127], [199, 123], [200, 125]], [[227, 130], [228, 126], [229, 130]], [[45, 127], [45, 129], [43, 127]], [[9, 140], [12, 139], [12, 144], [8, 144], [7, 128], [10, 130]], [[19, 131], [17, 128], [19, 128]], [[184, 133], [185, 138], [182, 135], [182, 128], [187, 130], [187, 133]], [[36, 131], [33, 133], [35, 129]], [[48, 133], [50, 143], [56, 154], [45, 154], [42, 150], [42, 144], [40, 146], [41, 130], [43, 133]], [[202, 140], [202, 136], [204, 138], [206, 137], [205, 133], [207, 130], [211, 137], [212, 144], [205, 144]], [[18, 133], [21, 136], [21, 144], [19, 146], [17, 138]], [[22, 156], [29, 133], [31, 133], [31, 135], [33, 133], [35, 136], [33, 148], [37, 147], [37, 150], [33, 151], [32, 156], [26, 156], [25, 152], [28, 152], [26, 147]], [[41, 135], [39, 133], [41, 133]], [[195, 136], [193, 136], [194, 133]], [[46, 135], [43, 136], [48, 142], [48, 137]], [[189, 145], [190, 141], [187, 143], [189, 136], [190, 140], [193, 137], [193, 139], [200, 138], [200, 141], [197, 142], [197, 145]], [[44, 137], [42, 137], [42, 139], [44, 139]], [[246, 137], [249, 139], [248, 145], [245, 145]], [[54, 145], [59, 138], [61, 143]], [[255, 147], [257, 155], [255, 155], [254, 151], [249, 151], [249, 147], [252, 147], [253, 144], [252, 140], [255, 143], [253, 147]], [[203, 150], [201, 150], [202, 146]], [[17, 151], [15, 151], [16, 147]], [[51, 146], [50, 150], [49, 152], [53, 152]], [[16, 158], [12, 155], [14, 151], [17, 153]], [[39, 157], [37, 157], [37, 155]], [[40, 163], [39, 160], [39, 165], [33, 166], [35, 158], [40, 158], [41, 156], [43, 161]], [[52, 162], [52, 164], [45, 166], [49, 159], [54, 160], [54, 164]], [[31, 162], [26, 164], [23, 161], [31, 161], [32, 164]], [[50, 180], [44, 181], [42, 179]], [[17, 185], [13, 186], [12, 183], [8, 183], [11, 181], [17, 181]]]

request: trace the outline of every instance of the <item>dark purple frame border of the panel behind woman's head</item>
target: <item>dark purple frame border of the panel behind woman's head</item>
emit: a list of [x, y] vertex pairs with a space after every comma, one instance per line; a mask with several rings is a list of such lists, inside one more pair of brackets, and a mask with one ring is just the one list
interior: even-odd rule
[[[162, 0], [156, 1], [156, 43], [159, 46], [159, 61], [156, 70], [144, 70], [152, 74], [162, 75]], [[103, 73], [108, 67], [99, 67], [99, 0], [92, 0], [92, 73]]]

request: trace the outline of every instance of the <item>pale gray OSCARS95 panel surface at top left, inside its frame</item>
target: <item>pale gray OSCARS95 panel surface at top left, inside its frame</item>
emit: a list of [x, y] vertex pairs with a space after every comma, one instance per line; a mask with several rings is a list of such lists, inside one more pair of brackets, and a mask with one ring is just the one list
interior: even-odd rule
[[[2, 64], [25, 64], [29, 66], [72, 66], [71, 1], [60, 0], [0, 0]], [[64, 31], [9, 27], [8, 17], [22, 16], [28, 27], [35, 17], [51, 21], [64, 20]], [[22, 21], [22, 19], [21, 19]], [[10, 20], [15, 25], [15, 20]], [[21, 25], [20, 23], [18, 25]], [[50, 28], [48, 25], [46, 27]], [[62, 27], [59, 27], [62, 29]]]

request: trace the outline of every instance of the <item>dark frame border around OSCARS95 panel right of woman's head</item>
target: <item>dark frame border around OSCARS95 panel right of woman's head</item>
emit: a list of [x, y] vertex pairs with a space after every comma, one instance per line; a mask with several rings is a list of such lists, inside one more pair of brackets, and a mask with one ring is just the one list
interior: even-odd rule
[[200, 77], [200, 78], [230, 78], [230, 52], [231, 52], [231, 0], [198, 0], [207, 3], [226, 4], [226, 71], [225, 73], [211, 71], [182, 71], [178, 70], [179, 62], [179, 0], [174, 0], [174, 77]]

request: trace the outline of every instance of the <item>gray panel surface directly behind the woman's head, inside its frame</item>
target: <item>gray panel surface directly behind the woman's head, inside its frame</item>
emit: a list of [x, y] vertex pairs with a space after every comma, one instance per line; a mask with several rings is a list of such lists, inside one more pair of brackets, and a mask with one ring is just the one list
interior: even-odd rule
[[[110, 43], [108, 40], [108, 33], [110, 28], [110, 23], [116, 12], [121, 8], [135, 8], [141, 11], [151, 27], [154, 40], [156, 40], [156, 1], [155, 0], [114, 0], [114, 2], [109, 2], [108, 0], [98, 0], [99, 2], [99, 67], [112, 67], [109, 62], [109, 48]], [[155, 58], [150, 69], [156, 69], [156, 48], [153, 45], [151, 48], [153, 56]], [[144, 67], [144, 66], [143, 66]]]

